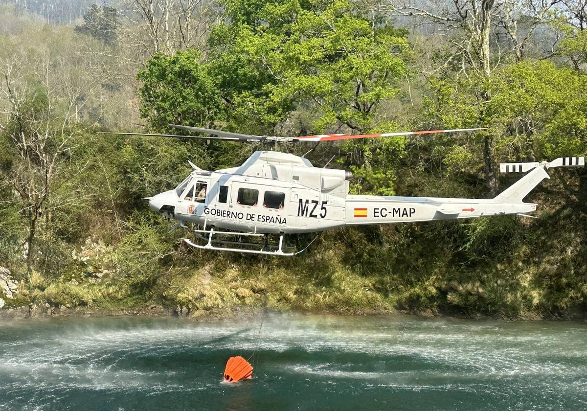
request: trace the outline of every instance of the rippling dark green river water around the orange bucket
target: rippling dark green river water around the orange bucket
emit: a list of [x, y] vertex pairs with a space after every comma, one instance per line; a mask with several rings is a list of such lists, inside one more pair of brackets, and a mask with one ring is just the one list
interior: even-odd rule
[[[0, 322], [0, 410], [587, 409], [585, 323], [288, 314], [260, 326]], [[252, 355], [254, 379], [221, 382], [233, 355]]]

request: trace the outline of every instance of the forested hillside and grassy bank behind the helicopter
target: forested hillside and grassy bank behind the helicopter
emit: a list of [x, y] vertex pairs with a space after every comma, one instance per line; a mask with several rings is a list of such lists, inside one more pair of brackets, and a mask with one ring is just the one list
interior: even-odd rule
[[583, 169], [549, 171], [527, 198], [539, 219], [343, 228], [271, 258], [194, 251], [142, 199], [187, 160], [232, 167], [271, 144], [97, 133], [485, 127], [308, 158], [335, 156], [352, 193], [492, 197], [519, 177], [500, 162], [587, 152], [585, 0], [128, 0], [81, 14], [0, 5], [0, 280], [18, 280], [0, 288], [5, 308], [585, 312]]

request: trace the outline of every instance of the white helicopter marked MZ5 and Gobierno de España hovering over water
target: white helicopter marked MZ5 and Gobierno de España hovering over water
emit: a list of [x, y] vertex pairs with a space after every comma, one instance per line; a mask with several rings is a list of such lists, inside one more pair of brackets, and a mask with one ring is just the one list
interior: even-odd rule
[[[255, 136], [204, 129], [170, 127], [209, 136], [175, 134], [107, 133], [138, 136], [193, 137], [241, 142], [323, 142], [373, 137], [409, 136], [431, 133], [471, 132], [482, 129], [426, 130], [383, 134], [321, 134], [315, 136]], [[306, 153], [307, 154], [307, 153]], [[545, 169], [584, 166], [585, 157], [560, 157], [541, 163], [500, 164], [502, 173], [525, 173], [524, 177], [497, 197], [442, 198], [362, 196], [349, 194], [352, 174], [345, 170], [314, 167], [308, 159], [279, 151], [255, 151], [241, 166], [204, 171], [191, 163], [194, 171], [173, 190], [146, 197], [149, 205], [164, 217], [197, 225], [197, 242], [183, 238], [204, 250], [250, 252], [269, 255], [295, 255], [301, 250], [285, 245], [285, 234], [321, 233], [346, 225], [413, 223], [417, 221], [477, 218], [518, 214], [536, 210], [537, 204], [524, 203], [524, 197], [544, 178]], [[277, 244], [269, 244], [269, 234], [278, 234]], [[262, 237], [264, 242], [250, 241]], [[246, 239], [249, 241], [246, 241]], [[199, 242], [199, 244], [198, 244]]]

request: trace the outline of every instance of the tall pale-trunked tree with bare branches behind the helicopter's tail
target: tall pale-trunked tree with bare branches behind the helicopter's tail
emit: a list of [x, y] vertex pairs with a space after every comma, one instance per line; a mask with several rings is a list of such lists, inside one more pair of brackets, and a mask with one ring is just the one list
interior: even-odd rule
[[[515, 62], [526, 58], [536, 29], [549, 21], [549, 11], [559, 2], [561, 0], [454, 0], [450, 5], [433, 9], [391, 0], [383, 1], [378, 8], [404, 16], [421, 16], [448, 32], [448, 47], [441, 53], [446, 69], [441, 76], [455, 78], [463, 74], [471, 87], [477, 87], [484, 85], [491, 78], [492, 71], [508, 58]], [[459, 86], [463, 87], [464, 83]], [[475, 96], [471, 103], [479, 109], [479, 117], [471, 120], [486, 126], [483, 106], [491, 95], [483, 88], [471, 90], [471, 95]], [[481, 135], [485, 181], [495, 193], [498, 186], [495, 137], [491, 133]]]

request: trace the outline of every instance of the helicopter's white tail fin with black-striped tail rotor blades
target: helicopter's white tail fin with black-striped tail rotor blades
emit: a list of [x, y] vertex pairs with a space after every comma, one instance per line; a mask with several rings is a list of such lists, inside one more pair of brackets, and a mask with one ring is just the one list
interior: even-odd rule
[[585, 166], [585, 157], [559, 157], [558, 159], [542, 161], [542, 163], [503, 163], [500, 164], [502, 173], [524, 173], [532, 170], [520, 178], [501, 194], [493, 199], [495, 203], [522, 203], [534, 187], [544, 180], [550, 178], [544, 169], [552, 167], [582, 167]]

